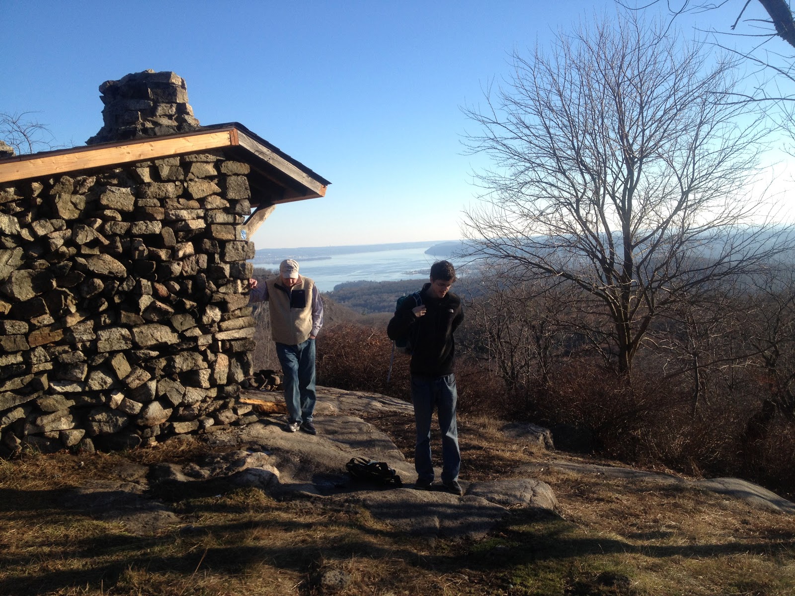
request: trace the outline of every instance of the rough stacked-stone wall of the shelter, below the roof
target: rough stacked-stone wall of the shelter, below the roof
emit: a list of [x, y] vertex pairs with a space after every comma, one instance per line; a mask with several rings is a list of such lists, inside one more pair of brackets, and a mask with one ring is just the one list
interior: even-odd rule
[[0, 453], [246, 422], [247, 164], [223, 153], [0, 185]]

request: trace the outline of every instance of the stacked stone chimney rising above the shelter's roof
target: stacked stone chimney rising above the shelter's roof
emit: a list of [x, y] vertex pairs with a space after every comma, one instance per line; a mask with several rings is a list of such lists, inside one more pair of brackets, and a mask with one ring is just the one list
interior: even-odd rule
[[187, 133], [200, 126], [188, 105], [185, 79], [173, 72], [136, 72], [105, 81], [99, 92], [105, 124], [87, 145]]

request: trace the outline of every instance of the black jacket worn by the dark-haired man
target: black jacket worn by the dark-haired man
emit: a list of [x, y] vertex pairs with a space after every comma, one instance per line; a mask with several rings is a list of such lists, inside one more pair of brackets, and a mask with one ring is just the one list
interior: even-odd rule
[[430, 295], [431, 284], [420, 292], [425, 315], [415, 316], [414, 300], [405, 300], [395, 311], [386, 327], [390, 339], [410, 339], [412, 346], [412, 375], [417, 377], [444, 377], [453, 372], [456, 360], [456, 341], [453, 332], [463, 321], [463, 307], [456, 294], [448, 292], [438, 300]]

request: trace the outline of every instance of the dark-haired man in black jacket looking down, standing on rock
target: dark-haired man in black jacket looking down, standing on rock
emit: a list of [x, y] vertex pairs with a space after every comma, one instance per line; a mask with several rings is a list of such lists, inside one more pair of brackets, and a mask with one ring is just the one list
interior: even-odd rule
[[453, 366], [456, 343], [453, 332], [463, 321], [461, 300], [450, 287], [456, 269], [449, 261], [431, 267], [431, 281], [420, 292], [419, 304], [408, 299], [401, 304], [386, 327], [390, 339], [408, 339], [411, 354], [411, 401], [417, 424], [414, 468], [415, 488], [429, 490], [433, 484], [431, 463], [431, 416], [436, 408], [442, 434], [442, 484], [454, 494], [462, 494], [458, 483], [461, 453], [456, 427], [456, 375]]

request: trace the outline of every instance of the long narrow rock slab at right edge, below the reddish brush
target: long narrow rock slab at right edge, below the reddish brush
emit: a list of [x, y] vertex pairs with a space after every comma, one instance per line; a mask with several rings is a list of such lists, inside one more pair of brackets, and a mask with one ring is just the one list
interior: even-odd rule
[[656, 482], [665, 485], [687, 486], [700, 490], [708, 490], [712, 493], [719, 493], [727, 497], [738, 499], [739, 501], [744, 501], [755, 509], [767, 509], [780, 513], [795, 514], [795, 503], [793, 503], [793, 501], [788, 501], [784, 497], [779, 497], [778, 494], [762, 488], [762, 486], [758, 486], [753, 482], [748, 482], [740, 478], [688, 480], [687, 478], [681, 478], [681, 476], [674, 476], [673, 474], [634, 470], [632, 468], [622, 468], [619, 466], [598, 466], [593, 463], [565, 462], [560, 460], [518, 466], [514, 471], [519, 474], [534, 474], [544, 467], [572, 472], [573, 474], [596, 474], [605, 478], [619, 478], [641, 482]]

